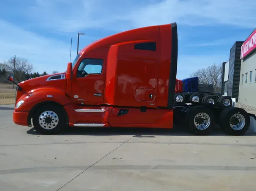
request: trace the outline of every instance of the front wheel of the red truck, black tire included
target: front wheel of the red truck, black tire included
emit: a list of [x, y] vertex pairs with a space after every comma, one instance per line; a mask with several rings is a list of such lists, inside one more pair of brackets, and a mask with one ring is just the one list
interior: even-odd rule
[[41, 134], [58, 134], [65, 128], [62, 108], [56, 105], [42, 105], [33, 115], [33, 125]]

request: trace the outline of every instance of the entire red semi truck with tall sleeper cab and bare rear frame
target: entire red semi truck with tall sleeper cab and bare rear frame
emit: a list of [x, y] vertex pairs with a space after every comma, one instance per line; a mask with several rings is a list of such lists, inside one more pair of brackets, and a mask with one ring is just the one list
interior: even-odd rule
[[[67, 71], [17, 84], [13, 121], [42, 134], [67, 126], [173, 128], [184, 123], [194, 134], [215, 124], [242, 135], [250, 114], [213, 104], [178, 104], [177, 25], [149, 26], [97, 40], [82, 49]], [[255, 117], [255, 116], [254, 116]]]

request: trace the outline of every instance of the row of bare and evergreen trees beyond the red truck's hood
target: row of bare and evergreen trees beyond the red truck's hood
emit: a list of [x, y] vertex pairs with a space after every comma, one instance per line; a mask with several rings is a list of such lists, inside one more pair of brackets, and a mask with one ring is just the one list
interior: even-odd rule
[[[4, 60], [0, 63], [0, 83], [8, 83], [7, 76], [14, 75], [14, 79], [19, 83], [30, 78], [36, 78], [42, 75], [48, 75], [46, 71], [42, 74], [33, 71], [33, 64], [27, 59], [21, 57], [11, 57], [9, 60]], [[53, 71], [56, 74], [58, 71]]]

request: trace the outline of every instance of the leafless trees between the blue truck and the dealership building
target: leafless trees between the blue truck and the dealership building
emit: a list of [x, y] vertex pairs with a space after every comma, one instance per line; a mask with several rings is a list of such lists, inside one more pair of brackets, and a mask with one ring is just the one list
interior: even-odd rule
[[212, 84], [216, 93], [221, 91], [221, 74], [222, 66], [214, 63], [214, 65], [193, 72], [190, 77], [198, 77], [201, 84]]

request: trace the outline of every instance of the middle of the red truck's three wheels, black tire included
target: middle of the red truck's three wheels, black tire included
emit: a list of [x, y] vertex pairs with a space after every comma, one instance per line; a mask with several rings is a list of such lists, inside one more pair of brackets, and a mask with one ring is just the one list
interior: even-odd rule
[[214, 114], [203, 106], [191, 107], [187, 114], [187, 127], [196, 135], [208, 135], [215, 125]]

